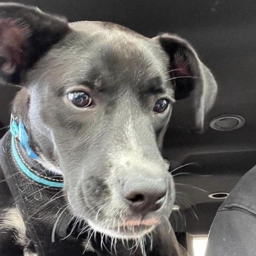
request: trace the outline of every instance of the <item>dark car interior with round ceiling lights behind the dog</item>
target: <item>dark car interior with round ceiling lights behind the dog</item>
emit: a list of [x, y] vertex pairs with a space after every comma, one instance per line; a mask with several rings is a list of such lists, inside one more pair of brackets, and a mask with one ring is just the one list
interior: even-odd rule
[[[10, 2], [10, 1], [1, 1]], [[218, 83], [205, 132], [195, 128], [191, 98], [175, 102], [163, 155], [174, 177], [170, 218], [191, 256], [193, 239], [207, 238], [218, 207], [256, 164], [256, 2], [250, 0], [23, 0], [69, 22], [118, 23], [147, 37], [170, 32], [187, 39]], [[0, 138], [9, 129], [11, 101], [20, 88], [1, 86]]]

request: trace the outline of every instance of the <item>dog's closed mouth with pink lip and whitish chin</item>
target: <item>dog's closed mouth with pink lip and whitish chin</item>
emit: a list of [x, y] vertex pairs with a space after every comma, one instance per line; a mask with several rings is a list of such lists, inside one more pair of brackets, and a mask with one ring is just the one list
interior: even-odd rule
[[112, 227], [101, 225], [101, 223], [94, 223], [90, 220], [87, 223], [94, 231], [112, 238], [138, 239], [151, 233], [160, 223], [160, 220], [158, 218], [128, 219]]

